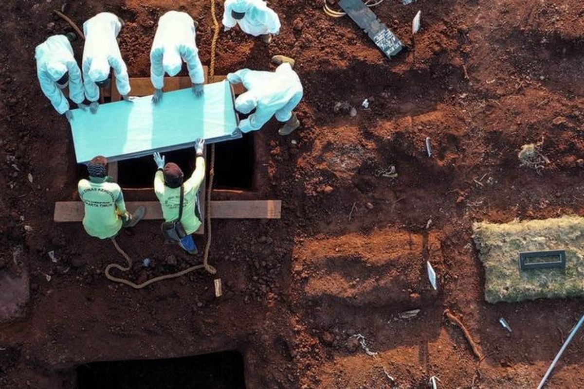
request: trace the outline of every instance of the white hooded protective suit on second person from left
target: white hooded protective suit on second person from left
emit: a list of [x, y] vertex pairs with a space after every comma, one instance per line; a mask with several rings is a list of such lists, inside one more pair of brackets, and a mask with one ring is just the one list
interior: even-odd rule
[[130, 93], [128, 69], [121, 59], [117, 34], [121, 22], [110, 12], [98, 13], [83, 23], [85, 47], [83, 50], [83, 79], [85, 96], [89, 101], [99, 100], [99, 87], [96, 82], [105, 80], [113, 68], [116, 75], [116, 87], [121, 95]]

